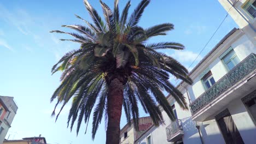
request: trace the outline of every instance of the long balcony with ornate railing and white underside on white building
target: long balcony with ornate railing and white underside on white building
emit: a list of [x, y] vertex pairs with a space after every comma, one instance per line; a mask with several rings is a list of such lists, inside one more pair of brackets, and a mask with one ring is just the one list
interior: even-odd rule
[[[201, 122], [211, 119], [211, 115], [231, 100], [245, 96], [246, 92], [255, 88], [255, 74], [256, 55], [251, 53], [190, 104], [192, 119]], [[227, 97], [229, 95], [231, 97]]]

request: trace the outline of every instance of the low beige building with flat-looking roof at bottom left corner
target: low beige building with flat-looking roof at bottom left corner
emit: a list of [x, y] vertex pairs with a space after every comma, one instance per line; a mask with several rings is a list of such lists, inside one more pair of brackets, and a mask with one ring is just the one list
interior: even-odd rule
[[46, 143], [45, 137], [25, 137], [22, 140], [4, 140], [3, 144], [43, 144]]

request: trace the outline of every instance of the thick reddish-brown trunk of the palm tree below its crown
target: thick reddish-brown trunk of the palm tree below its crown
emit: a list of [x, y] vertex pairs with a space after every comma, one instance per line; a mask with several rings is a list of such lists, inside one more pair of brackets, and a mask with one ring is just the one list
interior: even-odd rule
[[107, 97], [108, 127], [106, 144], [119, 144], [120, 119], [124, 99], [123, 92], [123, 83], [117, 78], [113, 79], [109, 83], [109, 93]]

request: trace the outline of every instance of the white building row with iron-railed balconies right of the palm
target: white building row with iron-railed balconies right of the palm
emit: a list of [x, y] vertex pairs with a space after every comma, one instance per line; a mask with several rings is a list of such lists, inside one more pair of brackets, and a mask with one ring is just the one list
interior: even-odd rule
[[256, 143], [256, 2], [219, 0], [239, 29], [232, 29], [191, 70], [193, 85], [177, 88], [190, 110], [184, 111], [171, 95], [177, 114], [171, 122], [151, 127], [135, 143]]

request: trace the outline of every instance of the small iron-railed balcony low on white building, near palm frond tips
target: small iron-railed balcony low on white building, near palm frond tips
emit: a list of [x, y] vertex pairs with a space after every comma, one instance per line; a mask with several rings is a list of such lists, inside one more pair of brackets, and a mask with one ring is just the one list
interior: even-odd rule
[[176, 142], [184, 135], [181, 119], [176, 119], [166, 127], [166, 136], [168, 142]]

